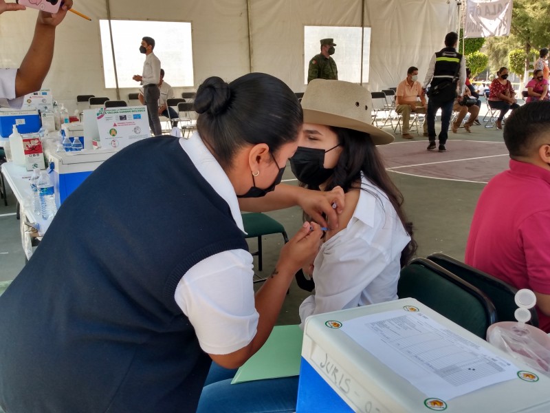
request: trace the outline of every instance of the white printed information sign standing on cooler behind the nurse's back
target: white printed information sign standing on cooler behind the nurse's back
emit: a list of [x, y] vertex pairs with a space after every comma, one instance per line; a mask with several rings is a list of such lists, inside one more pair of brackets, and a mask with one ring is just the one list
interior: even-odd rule
[[96, 114], [102, 148], [122, 149], [151, 136], [145, 106], [102, 107]]

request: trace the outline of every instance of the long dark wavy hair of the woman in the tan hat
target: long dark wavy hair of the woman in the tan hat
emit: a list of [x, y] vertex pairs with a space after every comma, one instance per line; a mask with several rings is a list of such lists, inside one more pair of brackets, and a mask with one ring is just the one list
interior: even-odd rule
[[[412, 222], [407, 220], [401, 208], [403, 195], [388, 176], [380, 152], [373, 144], [371, 136], [365, 132], [343, 127], [330, 127], [330, 129], [338, 136], [342, 152], [332, 176], [327, 180], [325, 191], [331, 191], [334, 187], [342, 187], [344, 192], [351, 189], [368, 191], [361, 187], [361, 173], [364, 173], [369, 181], [387, 195], [405, 231], [410, 235], [410, 242], [401, 251], [401, 267], [406, 266], [417, 251], [417, 243], [412, 237]], [[376, 193], [373, 195], [378, 196]]]

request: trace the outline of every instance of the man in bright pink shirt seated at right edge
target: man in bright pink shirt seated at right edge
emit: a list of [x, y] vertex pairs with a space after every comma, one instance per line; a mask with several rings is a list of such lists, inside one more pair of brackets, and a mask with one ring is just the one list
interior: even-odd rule
[[479, 197], [465, 262], [537, 297], [540, 328], [550, 332], [550, 102], [514, 110], [504, 142], [510, 169]]

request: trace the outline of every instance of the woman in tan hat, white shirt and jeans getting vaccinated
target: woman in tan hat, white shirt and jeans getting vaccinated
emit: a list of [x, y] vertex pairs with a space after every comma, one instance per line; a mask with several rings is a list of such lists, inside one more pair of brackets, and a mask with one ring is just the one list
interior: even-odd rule
[[[415, 252], [403, 197], [375, 146], [393, 136], [371, 125], [364, 109], [369, 96], [360, 85], [314, 79], [302, 99], [305, 124], [292, 171], [309, 189], [340, 186], [345, 193], [338, 229], [325, 233], [310, 266], [316, 292], [300, 306], [302, 323], [310, 315], [397, 299], [399, 271]], [[296, 410], [298, 377], [231, 385], [234, 371], [225, 370], [222, 380], [216, 370], [210, 369], [198, 413]]]

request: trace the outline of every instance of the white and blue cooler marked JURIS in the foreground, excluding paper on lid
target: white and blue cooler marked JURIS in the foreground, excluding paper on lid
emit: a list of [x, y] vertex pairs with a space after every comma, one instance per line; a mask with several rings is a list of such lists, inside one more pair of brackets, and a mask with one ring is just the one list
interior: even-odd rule
[[[423, 394], [342, 330], [342, 326], [360, 317], [396, 310], [411, 311], [410, 308], [441, 324], [450, 334], [469, 341], [472, 346], [485, 348], [511, 363], [518, 369], [517, 377], [449, 400], [439, 400], [438, 394]], [[420, 346], [423, 343], [415, 345], [415, 351], [421, 351]], [[426, 371], [426, 374], [431, 373]], [[550, 412], [549, 388], [549, 377], [533, 372], [526, 364], [416, 299], [406, 298], [314, 315], [305, 321], [296, 413], [429, 413], [443, 410], [445, 413], [547, 413]]]

